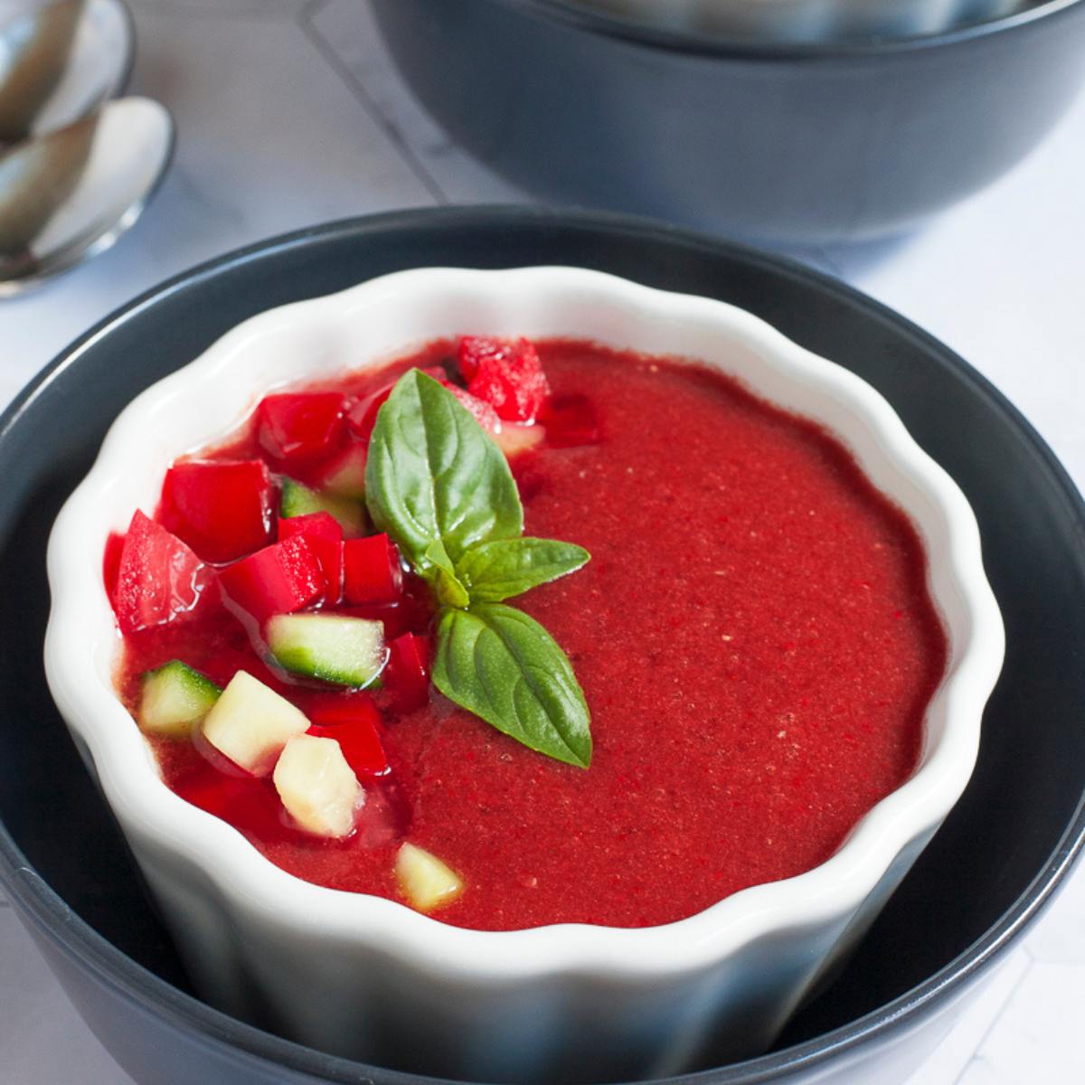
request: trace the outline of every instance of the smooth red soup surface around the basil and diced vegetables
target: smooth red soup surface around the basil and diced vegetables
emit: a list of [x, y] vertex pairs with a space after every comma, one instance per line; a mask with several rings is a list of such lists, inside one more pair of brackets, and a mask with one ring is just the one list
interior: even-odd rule
[[[181, 621], [122, 621], [118, 688], [138, 714], [140, 676], [176, 659], [219, 687], [248, 672], [312, 733], [345, 733], [334, 729], [342, 705], [371, 716], [379, 749], [357, 774], [365, 801], [342, 839], [299, 829], [270, 777], [242, 771], [199, 732], [150, 738], [170, 788], [299, 878], [403, 899], [396, 857], [409, 842], [461, 882], [434, 912], [447, 923], [666, 923], [822, 863], [909, 777], [945, 636], [915, 529], [822, 429], [695, 362], [579, 341], [537, 348], [549, 413], [532, 426], [541, 439], [509, 454], [525, 531], [591, 560], [514, 603], [572, 663], [591, 713], [588, 768], [526, 749], [436, 690], [405, 699], [391, 662], [372, 691], [289, 675], [214, 586]], [[434, 343], [306, 391], [342, 393], [348, 413], [360, 405], [357, 422], [410, 366], [460, 380], [456, 350]], [[352, 442], [365, 444], [365, 425], [321, 456]], [[263, 459], [279, 499], [282, 452], [268, 451], [254, 418], [200, 455]], [[301, 462], [292, 474], [316, 487], [323, 471]], [[154, 520], [183, 538], [170, 500]], [[186, 541], [208, 576], [226, 575], [220, 556]], [[115, 595], [122, 546], [106, 556]], [[410, 574], [393, 603], [304, 609], [378, 617], [388, 642], [432, 651], [430, 591]], [[361, 764], [367, 754], [347, 744]]]

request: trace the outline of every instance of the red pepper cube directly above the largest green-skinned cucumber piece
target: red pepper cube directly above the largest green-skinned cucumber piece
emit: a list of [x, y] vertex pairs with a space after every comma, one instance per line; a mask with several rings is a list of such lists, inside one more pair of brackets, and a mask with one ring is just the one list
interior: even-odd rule
[[320, 599], [328, 583], [304, 535], [295, 535], [224, 569], [226, 597], [258, 622], [290, 614]]

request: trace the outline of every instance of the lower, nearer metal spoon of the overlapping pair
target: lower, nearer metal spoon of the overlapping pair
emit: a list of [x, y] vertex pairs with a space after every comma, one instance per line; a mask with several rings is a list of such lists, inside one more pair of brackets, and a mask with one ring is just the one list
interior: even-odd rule
[[108, 248], [140, 216], [174, 151], [174, 123], [145, 98], [0, 152], [0, 297]]

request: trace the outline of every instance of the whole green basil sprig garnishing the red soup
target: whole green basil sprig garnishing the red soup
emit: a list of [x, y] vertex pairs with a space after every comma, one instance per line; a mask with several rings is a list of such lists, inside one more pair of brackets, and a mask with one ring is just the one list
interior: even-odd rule
[[575, 572], [589, 554], [523, 538], [524, 510], [501, 450], [420, 370], [405, 373], [378, 412], [366, 501], [433, 588], [437, 689], [532, 750], [587, 768], [590, 715], [569, 658], [501, 600]]

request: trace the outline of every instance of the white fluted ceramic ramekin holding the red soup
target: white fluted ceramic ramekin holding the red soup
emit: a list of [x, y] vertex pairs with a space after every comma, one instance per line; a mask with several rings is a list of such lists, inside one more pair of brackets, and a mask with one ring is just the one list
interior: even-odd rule
[[[480, 331], [702, 359], [829, 426], [911, 516], [948, 669], [920, 767], [827, 863], [664, 927], [469, 931], [295, 879], [159, 779], [113, 690], [110, 532], [152, 511], [169, 462], [270, 387]], [[717, 1057], [768, 1046], [960, 795], [1004, 649], [971, 509], [869, 385], [729, 305], [571, 268], [406, 271], [247, 320], [120, 414], [58, 518], [48, 566], [53, 697], [203, 996], [317, 1048], [469, 1080], [636, 1077], [682, 1069], [710, 1036]]]

